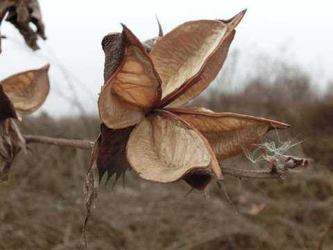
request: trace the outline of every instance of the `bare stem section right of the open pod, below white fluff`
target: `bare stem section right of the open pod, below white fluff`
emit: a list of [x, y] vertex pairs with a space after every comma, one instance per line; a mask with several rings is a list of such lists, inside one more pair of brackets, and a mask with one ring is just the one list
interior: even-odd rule
[[271, 169], [266, 170], [243, 170], [234, 169], [229, 167], [221, 167], [222, 174], [231, 175], [239, 178], [257, 178], [257, 179], [268, 179], [268, 178], [283, 178], [281, 174], [272, 171]]

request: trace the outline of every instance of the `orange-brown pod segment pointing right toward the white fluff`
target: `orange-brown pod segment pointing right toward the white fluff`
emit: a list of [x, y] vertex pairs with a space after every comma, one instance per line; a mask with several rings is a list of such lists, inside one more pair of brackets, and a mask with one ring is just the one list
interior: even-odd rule
[[288, 124], [273, 120], [214, 113], [198, 108], [167, 108], [194, 126], [210, 142], [216, 158], [221, 161], [250, 149], [271, 129], [289, 128]]

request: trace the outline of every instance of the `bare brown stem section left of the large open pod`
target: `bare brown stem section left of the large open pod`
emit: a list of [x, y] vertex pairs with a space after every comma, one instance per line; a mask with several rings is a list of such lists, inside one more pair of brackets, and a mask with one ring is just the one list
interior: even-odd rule
[[51, 144], [60, 147], [75, 147], [77, 149], [91, 150], [94, 147], [94, 142], [75, 140], [75, 139], [64, 139], [64, 138], [51, 138], [42, 135], [23, 135], [26, 143], [37, 142], [43, 144]]

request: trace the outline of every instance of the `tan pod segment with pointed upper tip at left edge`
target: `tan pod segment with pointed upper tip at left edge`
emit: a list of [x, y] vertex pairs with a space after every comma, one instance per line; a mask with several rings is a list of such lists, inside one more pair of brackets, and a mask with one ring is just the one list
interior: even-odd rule
[[3, 90], [19, 113], [33, 113], [42, 106], [49, 94], [50, 65], [9, 76], [0, 81]]

